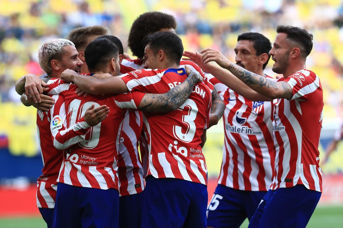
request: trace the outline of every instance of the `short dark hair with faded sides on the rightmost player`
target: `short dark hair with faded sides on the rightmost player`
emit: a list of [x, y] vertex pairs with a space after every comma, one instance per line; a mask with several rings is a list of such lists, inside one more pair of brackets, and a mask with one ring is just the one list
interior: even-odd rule
[[291, 40], [292, 42], [299, 44], [300, 52], [302, 52], [303, 57], [306, 58], [311, 53], [313, 47], [313, 35], [311, 33], [308, 33], [306, 29], [289, 25], [278, 25], [276, 27], [276, 32], [286, 33], [288, 40]]

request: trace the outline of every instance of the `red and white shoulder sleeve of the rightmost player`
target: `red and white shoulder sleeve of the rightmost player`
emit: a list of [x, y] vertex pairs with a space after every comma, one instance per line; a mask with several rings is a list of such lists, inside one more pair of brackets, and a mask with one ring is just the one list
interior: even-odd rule
[[293, 94], [291, 100], [297, 98], [307, 100], [320, 87], [319, 77], [309, 70], [300, 70], [288, 78], [279, 78], [277, 81], [285, 81], [291, 86]]

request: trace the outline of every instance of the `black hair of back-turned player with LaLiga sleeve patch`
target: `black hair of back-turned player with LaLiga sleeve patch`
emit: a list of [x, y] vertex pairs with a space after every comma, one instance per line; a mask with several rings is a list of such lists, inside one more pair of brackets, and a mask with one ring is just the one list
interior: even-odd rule
[[85, 50], [85, 60], [89, 71], [101, 71], [112, 58], [118, 57], [117, 46], [108, 39], [95, 39]]

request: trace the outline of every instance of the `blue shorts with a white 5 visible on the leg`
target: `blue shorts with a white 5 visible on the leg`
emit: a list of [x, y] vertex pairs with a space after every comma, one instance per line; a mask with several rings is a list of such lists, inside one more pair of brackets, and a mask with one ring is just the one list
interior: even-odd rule
[[207, 208], [207, 226], [240, 227], [251, 219], [267, 191], [244, 191], [218, 184]]

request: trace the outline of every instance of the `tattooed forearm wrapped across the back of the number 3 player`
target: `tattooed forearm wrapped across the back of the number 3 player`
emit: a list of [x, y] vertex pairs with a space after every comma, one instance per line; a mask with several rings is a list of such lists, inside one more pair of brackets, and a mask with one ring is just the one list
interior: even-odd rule
[[184, 82], [164, 94], [145, 94], [138, 107], [146, 112], [170, 112], [179, 108], [190, 96], [200, 75], [191, 72]]

